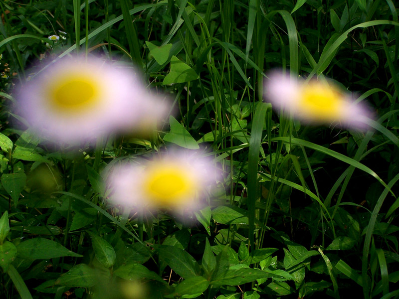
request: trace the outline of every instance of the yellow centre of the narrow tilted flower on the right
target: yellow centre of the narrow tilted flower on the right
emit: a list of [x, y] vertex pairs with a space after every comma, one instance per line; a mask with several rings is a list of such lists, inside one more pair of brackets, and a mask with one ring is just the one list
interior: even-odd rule
[[342, 115], [342, 94], [327, 84], [310, 82], [300, 95], [298, 109], [317, 120], [337, 120]]

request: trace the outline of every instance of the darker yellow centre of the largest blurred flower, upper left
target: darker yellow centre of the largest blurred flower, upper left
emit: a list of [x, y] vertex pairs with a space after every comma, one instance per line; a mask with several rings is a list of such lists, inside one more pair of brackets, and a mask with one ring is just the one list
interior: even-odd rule
[[52, 82], [48, 98], [56, 110], [77, 113], [93, 108], [99, 101], [99, 82], [88, 75], [69, 74]]

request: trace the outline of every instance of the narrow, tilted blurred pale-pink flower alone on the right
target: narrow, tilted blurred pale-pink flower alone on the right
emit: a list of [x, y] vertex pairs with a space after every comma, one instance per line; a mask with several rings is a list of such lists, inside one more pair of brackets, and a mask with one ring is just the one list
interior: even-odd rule
[[305, 82], [281, 72], [268, 75], [264, 97], [273, 108], [304, 122], [338, 123], [345, 128], [367, 129], [371, 113], [363, 103], [355, 103], [352, 96], [332, 82], [310, 80]]

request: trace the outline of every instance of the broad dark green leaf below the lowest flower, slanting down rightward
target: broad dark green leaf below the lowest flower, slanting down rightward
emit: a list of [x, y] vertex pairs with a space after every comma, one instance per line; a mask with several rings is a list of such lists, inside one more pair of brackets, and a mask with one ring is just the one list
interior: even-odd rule
[[200, 274], [200, 266], [187, 251], [167, 245], [156, 246], [155, 249], [160, 259], [181, 277], [187, 279]]

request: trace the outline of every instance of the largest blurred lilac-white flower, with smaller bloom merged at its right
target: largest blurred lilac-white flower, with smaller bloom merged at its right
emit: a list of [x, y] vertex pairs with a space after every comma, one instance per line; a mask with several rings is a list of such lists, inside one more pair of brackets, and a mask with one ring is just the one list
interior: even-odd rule
[[39, 136], [82, 144], [115, 132], [153, 130], [165, 102], [150, 95], [133, 69], [96, 57], [65, 58], [23, 86], [18, 113]]

